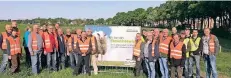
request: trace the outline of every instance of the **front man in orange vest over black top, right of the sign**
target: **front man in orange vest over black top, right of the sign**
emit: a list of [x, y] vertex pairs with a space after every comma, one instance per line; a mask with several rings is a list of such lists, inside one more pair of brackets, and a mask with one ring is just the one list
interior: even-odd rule
[[[174, 34], [170, 43], [171, 78], [182, 78], [184, 62], [186, 58], [186, 46], [180, 41], [180, 35]], [[177, 71], [177, 72], [176, 72]]]

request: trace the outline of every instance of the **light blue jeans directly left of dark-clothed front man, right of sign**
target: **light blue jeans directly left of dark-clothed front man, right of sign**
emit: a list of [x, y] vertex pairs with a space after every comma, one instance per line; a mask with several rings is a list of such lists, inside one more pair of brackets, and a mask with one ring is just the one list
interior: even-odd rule
[[160, 63], [160, 72], [162, 74], [161, 78], [169, 78], [167, 58], [160, 57], [159, 63]]

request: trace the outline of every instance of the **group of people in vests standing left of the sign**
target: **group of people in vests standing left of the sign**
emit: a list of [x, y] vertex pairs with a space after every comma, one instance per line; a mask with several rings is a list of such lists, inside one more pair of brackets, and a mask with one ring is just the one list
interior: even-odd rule
[[[64, 34], [59, 24], [41, 27], [34, 24], [32, 28], [27, 27], [23, 36], [26, 66], [31, 67], [33, 74], [39, 74], [44, 68], [55, 72], [70, 66], [74, 69], [73, 75], [91, 75], [92, 64], [94, 74], [97, 75], [97, 58], [100, 53], [104, 53], [97, 43], [105, 40], [100, 39], [92, 35], [91, 29], [76, 29], [73, 33], [67, 28]], [[7, 66], [12, 74], [19, 72], [22, 46], [16, 21], [5, 25], [5, 31], [0, 35], [0, 45], [3, 51], [0, 73], [5, 72]]]

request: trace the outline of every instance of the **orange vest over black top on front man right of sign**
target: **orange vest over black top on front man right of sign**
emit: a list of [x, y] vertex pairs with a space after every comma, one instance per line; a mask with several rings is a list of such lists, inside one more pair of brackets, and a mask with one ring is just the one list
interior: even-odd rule
[[179, 42], [175, 47], [173, 42], [171, 42], [170, 44], [170, 58], [174, 58], [174, 59], [181, 59], [182, 58], [182, 47], [183, 47], [184, 43], [183, 42]]

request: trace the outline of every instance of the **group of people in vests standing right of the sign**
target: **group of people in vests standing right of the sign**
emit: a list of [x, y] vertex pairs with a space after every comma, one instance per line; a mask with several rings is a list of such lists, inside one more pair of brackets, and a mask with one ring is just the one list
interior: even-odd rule
[[[140, 71], [148, 78], [200, 78], [200, 59], [204, 59], [206, 78], [218, 78], [216, 70], [216, 55], [220, 45], [217, 37], [210, 33], [209, 28], [204, 29], [204, 36], [198, 36], [198, 30], [185, 29], [177, 32], [172, 28], [160, 31], [154, 28], [151, 31], [143, 30], [136, 34], [133, 56], [136, 61], [135, 76]], [[193, 66], [196, 74], [193, 77]], [[161, 75], [156, 73], [160, 71]]]

